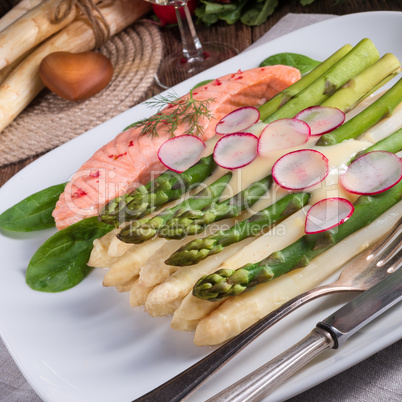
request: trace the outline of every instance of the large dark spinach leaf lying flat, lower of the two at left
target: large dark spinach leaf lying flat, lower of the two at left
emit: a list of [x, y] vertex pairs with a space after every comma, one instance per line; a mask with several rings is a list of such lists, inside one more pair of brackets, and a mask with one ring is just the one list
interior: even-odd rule
[[77, 285], [91, 270], [87, 263], [93, 241], [113, 228], [94, 216], [60, 230], [33, 255], [26, 272], [27, 284], [42, 292], [61, 292]]

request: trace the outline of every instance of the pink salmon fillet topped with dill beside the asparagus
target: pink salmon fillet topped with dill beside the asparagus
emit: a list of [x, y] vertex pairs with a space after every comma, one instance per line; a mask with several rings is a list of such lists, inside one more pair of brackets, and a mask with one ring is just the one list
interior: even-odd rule
[[[204, 141], [215, 135], [216, 123], [242, 106], [261, 106], [276, 93], [300, 79], [299, 70], [287, 66], [258, 67], [225, 75], [193, 91], [193, 98], [210, 103], [212, 118], [201, 119]], [[185, 95], [182, 99], [188, 99]], [[169, 113], [165, 109], [162, 112]], [[175, 135], [186, 131], [181, 124]], [[141, 136], [141, 128], [119, 134], [87, 161], [73, 175], [61, 194], [53, 217], [60, 230], [81, 219], [95, 216], [111, 199], [134, 190], [157, 177], [166, 168], [159, 162], [159, 147], [170, 137], [158, 130], [157, 137]]]

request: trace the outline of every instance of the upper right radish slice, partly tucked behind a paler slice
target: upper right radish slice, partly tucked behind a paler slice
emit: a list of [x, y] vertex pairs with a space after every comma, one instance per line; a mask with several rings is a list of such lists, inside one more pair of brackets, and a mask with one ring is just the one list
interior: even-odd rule
[[335, 130], [345, 121], [345, 113], [335, 107], [311, 106], [295, 116], [311, 128], [311, 135], [322, 135]]

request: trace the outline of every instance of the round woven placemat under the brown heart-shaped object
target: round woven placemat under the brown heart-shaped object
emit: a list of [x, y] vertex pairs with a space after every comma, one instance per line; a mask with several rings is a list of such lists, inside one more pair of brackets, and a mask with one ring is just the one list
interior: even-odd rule
[[138, 103], [161, 62], [162, 38], [155, 25], [138, 21], [98, 51], [114, 66], [109, 85], [81, 102], [43, 90], [0, 133], [0, 166], [49, 151]]

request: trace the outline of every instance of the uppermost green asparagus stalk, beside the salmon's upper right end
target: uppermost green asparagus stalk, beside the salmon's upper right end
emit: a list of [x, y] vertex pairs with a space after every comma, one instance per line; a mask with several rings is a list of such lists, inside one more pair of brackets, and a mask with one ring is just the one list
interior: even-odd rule
[[300, 91], [312, 84], [318, 77], [323, 75], [352, 49], [353, 46], [351, 45], [345, 45], [341, 47], [338, 51], [328, 57], [328, 59], [324, 60], [321, 64], [319, 64], [316, 68], [314, 68], [304, 77], [302, 77], [299, 81], [296, 81], [291, 86], [276, 94], [268, 102], [265, 102], [262, 106], [258, 108], [260, 111], [261, 120], [265, 120], [272, 113], [276, 112], [280, 107], [282, 107], [289, 99], [293, 98]]

